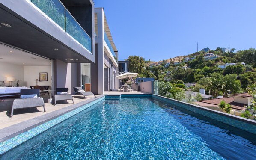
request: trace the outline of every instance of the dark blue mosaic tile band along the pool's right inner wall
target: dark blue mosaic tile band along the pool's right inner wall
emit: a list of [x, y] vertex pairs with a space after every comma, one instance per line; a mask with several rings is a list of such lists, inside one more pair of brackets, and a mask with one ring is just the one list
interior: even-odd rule
[[208, 110], [203, 110], [200, 107], [196, 107], [196, 106], [186, 104], [186, 103], [183, 103], [183, 102], [179, 102], [179, 101], [171, 100], [171, 99], [168, 99], [168, 98], [160, 97], [160, 96], [157, 96], [157, 95], [153, 95], [152, 97], [160, 99], [160, 100], [165, 101], [167, 103], [174, 104], [178, 107], [182, 107], [186, 110], [190, 110], [194, 113], [198, 113], [200, 115], [209, 117], [211, 119], [215, 119], [217, 121], [223, 122], [225, 124], [231, 125], [233, 127], [239, 128], [241, 130], [245, 130], [247, 132], [256, 134], [256, 125], [247, 123], [243, 119], [239, 120], [238, 117], [237, 117], [237, 119], [234, 119], [234, 118], [231, 118], [231, 116], [230, 117], [223, 116], [223, 115], [221, 115], [221, 113], [218, 114], [218, 113], [214, 113], [214, 112], [211, 112], [211, 111], [208, 111]]

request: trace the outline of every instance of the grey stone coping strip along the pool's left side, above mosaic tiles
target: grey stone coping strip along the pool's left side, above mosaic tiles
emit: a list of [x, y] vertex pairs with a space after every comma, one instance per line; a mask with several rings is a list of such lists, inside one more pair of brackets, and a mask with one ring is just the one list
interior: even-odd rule
[[98, 95], [96, 98], [90, 98], [89, 100], [81, 101], [81, 102], [78, 102], [77, 104], [72, 104], [68, 107], [61, 108], [60, 110], [55, 110], [53, 112], [46, 113], [45, 115], [38, 116], [26, 121], [22, 121], [18, 124], [14, 124], [9, 127], [0, 129], [0, 143], [8, 139], [11, 139], [21, 133], [24, 133], [34, 127], [44, 124], [45, 122], [51, 121], [52, 119], [56, 119], [57, 117], [60, 117], [68, 112], [71, 112], [72, 110], [75, 110], [83, 105], [89, 104], [104, 96], [105, 95]]

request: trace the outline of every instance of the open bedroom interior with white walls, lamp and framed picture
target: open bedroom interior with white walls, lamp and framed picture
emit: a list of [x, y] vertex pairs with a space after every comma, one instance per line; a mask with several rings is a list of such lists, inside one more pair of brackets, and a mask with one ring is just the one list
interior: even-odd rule
[[0, 44], [0, 95], [37, 85], [51, 89], [51, 59]]

